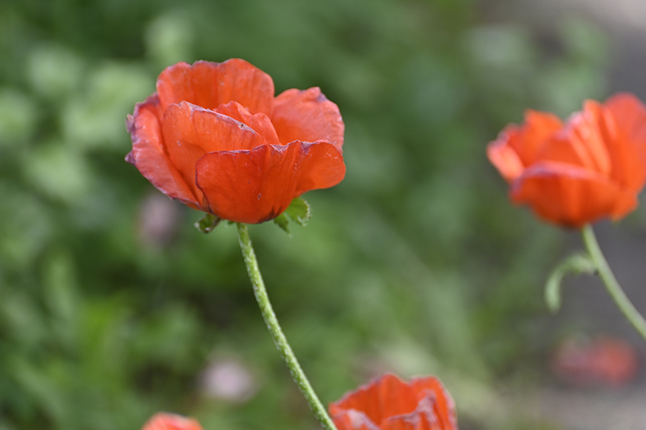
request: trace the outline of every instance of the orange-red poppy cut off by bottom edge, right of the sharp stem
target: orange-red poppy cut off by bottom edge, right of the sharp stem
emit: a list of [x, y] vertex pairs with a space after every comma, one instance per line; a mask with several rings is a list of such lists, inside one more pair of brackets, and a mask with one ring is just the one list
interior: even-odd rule
[[457, 430], [453, 399], [434, 377], [385, 374], [330, 404], [338, 430]]

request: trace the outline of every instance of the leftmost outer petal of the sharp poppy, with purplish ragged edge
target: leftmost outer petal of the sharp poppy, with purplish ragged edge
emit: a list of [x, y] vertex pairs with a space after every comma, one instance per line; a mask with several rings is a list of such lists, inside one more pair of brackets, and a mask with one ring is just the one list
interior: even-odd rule
[[135, 112], [128, 115], [126, 127], [132, 140], [132, 151], [126, 161], [134, 164], [141, 174], [162, 193], [178, 199], [182, 203], [199, 209], [199, 202], [192, 187], [174, 167], [164, 151], [161, 121], [159, 117], [159, 98], [151, 95], [142, 103], [135, 105]]

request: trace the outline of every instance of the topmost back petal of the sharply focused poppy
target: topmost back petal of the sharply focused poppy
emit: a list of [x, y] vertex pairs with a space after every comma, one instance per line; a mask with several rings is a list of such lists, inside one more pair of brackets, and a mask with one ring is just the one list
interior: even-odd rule
[[177, 63], [157, 78], [157, 93], [162, 108], [186, 101], [202, 108], [215, 109], [234, 100], [251, 113], [271, 115], [273, 80], [254, 65], [239, 58], [224, 63], [196, 61]]

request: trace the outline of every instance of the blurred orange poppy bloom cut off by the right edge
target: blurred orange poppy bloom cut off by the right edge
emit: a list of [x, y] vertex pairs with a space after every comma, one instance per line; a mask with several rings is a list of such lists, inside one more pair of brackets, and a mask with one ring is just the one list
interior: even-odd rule
[[630, 94], [586, 100], [565, 124], [528, 110], [487, 155], [511, 185], [511, 200], [542, 219], [577, 228], [617, 220], [635, 209], [646, 182], [646, 107]]

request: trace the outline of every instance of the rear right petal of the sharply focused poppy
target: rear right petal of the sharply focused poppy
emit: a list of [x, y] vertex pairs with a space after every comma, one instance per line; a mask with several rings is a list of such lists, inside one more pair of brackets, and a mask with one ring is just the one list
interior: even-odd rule
[[283, 145], [327, 140], [342, 151], [345, 125], [338, 106], [325, 98], [321, 88], [283, 91], [273, 100], [271, 122]]

